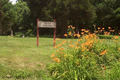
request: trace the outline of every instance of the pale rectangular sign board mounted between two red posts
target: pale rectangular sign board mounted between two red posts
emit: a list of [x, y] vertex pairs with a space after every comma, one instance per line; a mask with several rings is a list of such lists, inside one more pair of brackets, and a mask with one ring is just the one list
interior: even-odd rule
[[56, 28], [56, 22], [47, 22], [47, 21], [39, 21], [38, 27], [41, 28]]

